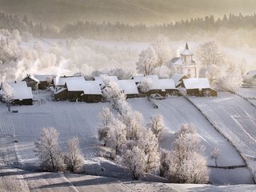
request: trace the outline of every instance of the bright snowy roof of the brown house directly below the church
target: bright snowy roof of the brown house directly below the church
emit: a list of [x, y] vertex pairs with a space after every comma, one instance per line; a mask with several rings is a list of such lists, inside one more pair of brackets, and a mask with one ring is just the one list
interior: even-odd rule
[[210, 88], [208, 78], [186, 78], [183, 83], [187, 90]]

